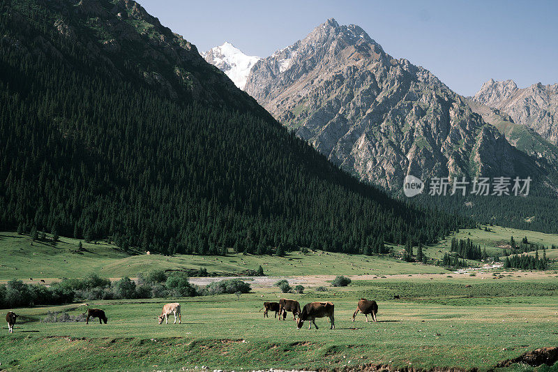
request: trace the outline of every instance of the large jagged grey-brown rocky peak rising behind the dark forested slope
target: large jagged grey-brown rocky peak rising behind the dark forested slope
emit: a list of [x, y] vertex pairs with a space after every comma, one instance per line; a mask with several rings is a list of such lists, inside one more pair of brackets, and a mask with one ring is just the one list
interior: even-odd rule
[[529, 161], [424, 68], [394, 59], [358, 26], [331, 19], [258, 61], [246, 91], [361, 179], [520, 174]]

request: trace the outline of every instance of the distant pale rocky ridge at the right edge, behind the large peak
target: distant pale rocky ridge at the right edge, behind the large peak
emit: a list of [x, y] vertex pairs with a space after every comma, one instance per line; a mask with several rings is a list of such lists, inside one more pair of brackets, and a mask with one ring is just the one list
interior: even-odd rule
[[473, 101], [509, 114], [515, 124], [531, 128], [553, 144], [558, 144], [558, 84], [519, 89], [513, 80], [488, 80]]

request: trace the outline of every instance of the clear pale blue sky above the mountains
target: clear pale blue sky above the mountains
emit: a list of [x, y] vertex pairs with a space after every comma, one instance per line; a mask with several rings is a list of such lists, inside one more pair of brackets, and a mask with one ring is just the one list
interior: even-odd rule
[[558, 1], [140, 0], [199, 50], [229, 41], [267, 57], [333, 17], [358, 24], [395, 58], [472, 95], [483, 82], [558, 82]]

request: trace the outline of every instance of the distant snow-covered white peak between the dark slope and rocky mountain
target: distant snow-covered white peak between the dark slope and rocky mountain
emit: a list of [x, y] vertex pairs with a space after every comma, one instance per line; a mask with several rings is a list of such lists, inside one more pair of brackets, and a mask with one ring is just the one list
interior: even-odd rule
[[210, 64], [223, 71], [240, 89], [244, 89], [250, 70], [261, 59], [247, 56], [228, 41], [200, 54]]

